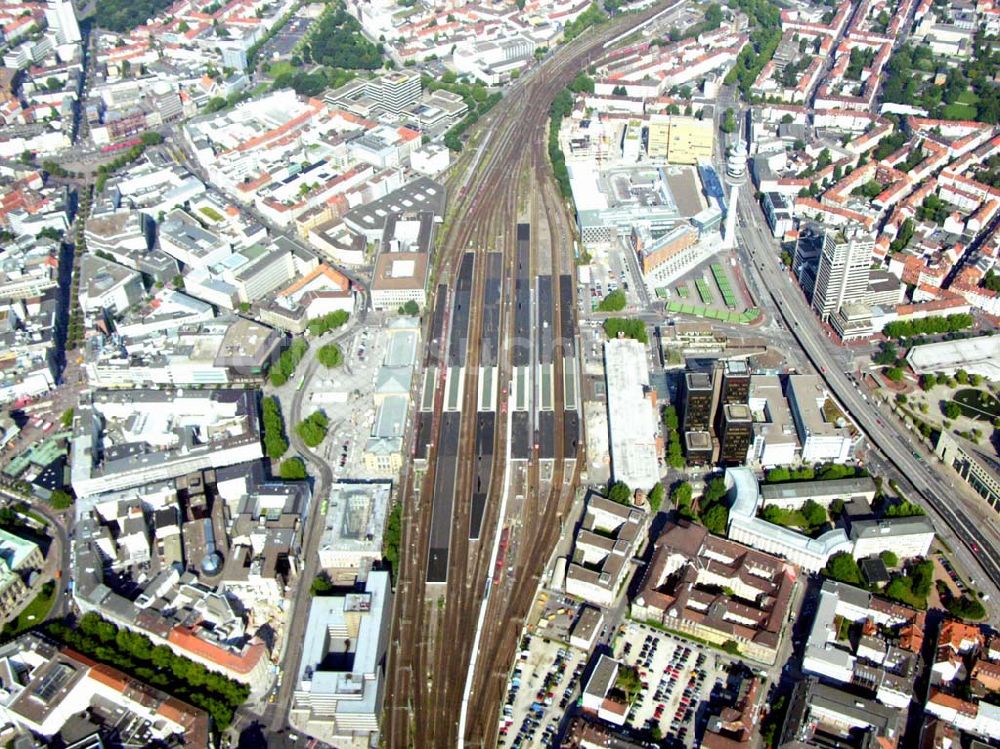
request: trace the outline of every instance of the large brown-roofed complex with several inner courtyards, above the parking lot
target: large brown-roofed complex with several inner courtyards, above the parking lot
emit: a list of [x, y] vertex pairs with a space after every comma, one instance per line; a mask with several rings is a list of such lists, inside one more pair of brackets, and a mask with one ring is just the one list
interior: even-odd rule
[[632, 618], [716, 645], [733, 642], [743, 655], [773, 664], [794, 581], [781, 559], [686, 520], [668, 522], [632, 600]]

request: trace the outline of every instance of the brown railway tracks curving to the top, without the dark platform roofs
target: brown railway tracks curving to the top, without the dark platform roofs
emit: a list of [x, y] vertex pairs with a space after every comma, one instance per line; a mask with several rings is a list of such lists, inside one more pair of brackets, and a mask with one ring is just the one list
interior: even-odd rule
[[[476, 129], [478, 141], [456, 163], [448, 184], [458, 194], [448, 213], [438, 250], [438, 266], [432, 309], [442, 294], [451, 294], [451, 284], [459, 278], [459, 268], [467, 253], [476, 256], [469, 309], [469, 336], [465, 359], [464, 393], [461, 406], [458, 461], [447, 583], [427, 583], [425, 574], [430, 555], [429, 538], [433, 515], [436, 473], [436, 445], [441, 434], [444, 388], [438, 385], [431, 448], [427, 470], [407, 471], [403, 482], [403, 525], [401, 569], [397, 584], [397, 616], [390, 640], [384, 745], [408, 747], [449, 747], [459, 743], [458, 719], [466, 675], [471, 658], [476, 622], [485, 587], [492, 570], [490, 555], [493, 534], [505, 520], [499, 515], [499, 496], [507, 470], [506, 400], [501, 392], [497, 403], [492, 472], [482, 523], [482, 534], [469, 538], [472, 486], [475, 481], [474, 446], [478, 403], [479, 365], [483, 297], [486, 284], [486, 257], [502, 254], [503, 286], [500, 302], [500, 351], [494, 357], [501, 386], [510, 382], [510, 346], [513, 334], [512, 287], [516, 266], [515, 225], [519, 217], [519, 190], [527, 174], [533, 226], [544, 224], [548, 231], [547, 252], [541, 252], [540, 232], [533, 232], [532, 277], [551, 274], [558, 287], [561, 273], [574, 272], [571, 247], [572, 222], [559, 196], [547, 156], [549, 106], [556, 94], [581, 70], [602, 54], [607, 39], [638, 25], [660, 12], [649, 11], [617, 18], [589, 31], [560, 48], [537, 71], [519, 82], [491, 110]], [[462, 173], [465, 178], [461, 179]], [[558, 294], [554, 299], [558, 300]], [[554, 303], [553, 326], [560, 330], [561, 315], [574, 309], [559, 309]], [[432, 315], [427, 315], [428, 331]], [[447, 326], [446, 326], [447, 327]], [[446, 337], [446, 336], [445, 336]], [[425, 336], [430, 340], [430, 335]], [[445, 348], [442, 344], [442, 350]], [[560, 349], [557, 348], [557, 353]], [[443, 366], [444, 361], [436, 362]], [[480, 659], [472, 680], [466, 725], [468, 746], [495, 745], [497, 712], [501, 690], [517, 646], [521, 626], [549, 555], [558, 539], [560, 520], [572, 502], [578, 483], [580, 461], [573, 461], [569, 476], [562, 445], [564, 379], [562, 357], [553, 357], [555, 402], [554, 431], [556, 459], [548, 471], [540, 470], [537, 456], [527, 463], [522, 475], [513, 479], [511, 493], [524, 497], [520, 516], [530, 518], [511, 539], [507, 565], [513, 576], [501, 578], [489, 600], [480, 641]], [[503, 414], [503, 416], [501, 416]], [[468, 459], [466, 459], [468, 457]], [[568, 479], [568, 480], [567, 480]], [[517, 489], [513, 488], [517, 485]], [[515, 553], [516, 550], [516, 553]]]

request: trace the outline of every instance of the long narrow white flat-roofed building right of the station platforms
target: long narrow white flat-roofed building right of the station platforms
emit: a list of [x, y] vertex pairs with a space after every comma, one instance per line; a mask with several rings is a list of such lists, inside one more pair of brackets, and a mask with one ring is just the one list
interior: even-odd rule
[[645, 345], [631, 338], [607, 341], [604, 371], [612, 476], [633, 489], [649, 491], [660, 480], [662, 447]]

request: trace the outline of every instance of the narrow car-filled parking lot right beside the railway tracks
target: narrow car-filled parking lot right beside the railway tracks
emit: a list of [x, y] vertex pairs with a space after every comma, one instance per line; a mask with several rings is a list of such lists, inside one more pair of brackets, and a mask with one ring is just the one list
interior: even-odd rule
[[559, 724], [579, 693], [586, 659], [575, 648], [526, 635], [507, 684], [498, 746], [555, 746]]

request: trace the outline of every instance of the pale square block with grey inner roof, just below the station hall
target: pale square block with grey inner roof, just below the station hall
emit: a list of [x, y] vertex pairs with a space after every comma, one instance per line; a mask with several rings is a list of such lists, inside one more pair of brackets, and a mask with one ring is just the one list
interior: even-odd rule
[[382, 560], [382, 532], [389, 511], [388, 481], [338, 481], [330, 487], [319, 566], [334, 580], [364, 579]]

